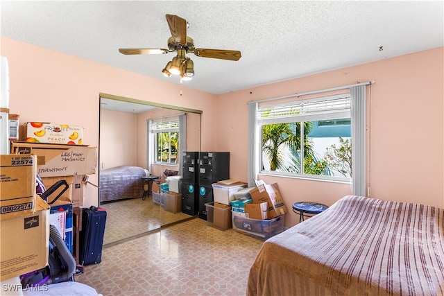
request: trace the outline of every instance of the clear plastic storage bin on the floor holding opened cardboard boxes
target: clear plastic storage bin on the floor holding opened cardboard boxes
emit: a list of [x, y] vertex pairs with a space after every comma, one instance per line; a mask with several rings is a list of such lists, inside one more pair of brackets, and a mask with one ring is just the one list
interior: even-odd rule
[[232, 227], [237, 232], [265, 241], [271, 238], [271, 236], [284, 231], [284, 215], [267, 220], [256, 220], [232, 215]]

